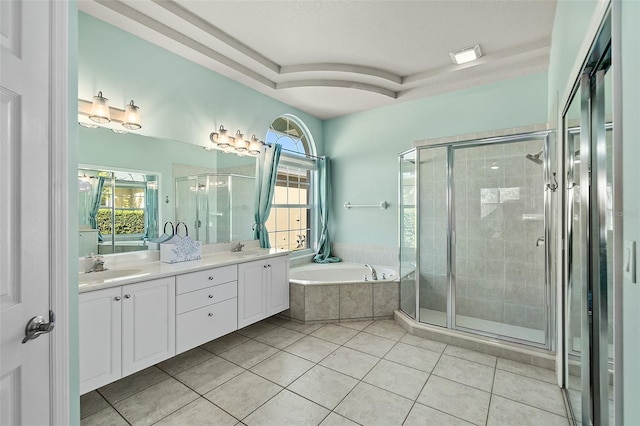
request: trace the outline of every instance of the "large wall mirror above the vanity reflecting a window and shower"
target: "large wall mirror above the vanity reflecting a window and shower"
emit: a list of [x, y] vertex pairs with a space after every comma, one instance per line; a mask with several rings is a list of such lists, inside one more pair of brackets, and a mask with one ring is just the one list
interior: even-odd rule
[[79, 256], [153, 249], [167, 221], [204, 244], [253, 238], [255, 157], [79, 126]]

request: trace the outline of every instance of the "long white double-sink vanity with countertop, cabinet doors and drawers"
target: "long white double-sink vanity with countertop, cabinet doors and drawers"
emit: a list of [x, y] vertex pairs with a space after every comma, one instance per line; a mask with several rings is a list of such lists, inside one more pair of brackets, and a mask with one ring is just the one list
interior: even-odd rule
[[288, 309], [288, 253], [253, 248], [168, 264], [147, 252], [80, 273], [80, 393]]

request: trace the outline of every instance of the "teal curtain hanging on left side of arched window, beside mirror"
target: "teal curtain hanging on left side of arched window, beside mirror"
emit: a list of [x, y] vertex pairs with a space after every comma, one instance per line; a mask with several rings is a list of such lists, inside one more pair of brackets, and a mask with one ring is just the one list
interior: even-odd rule
[[273, 203], [281, 150], [282, 147], [279, 144], [273, 144], [267, 147], [262, 158], [256, 162], [256, 210], [253, 238], [260, 240], [262, 248], [271, 248], [265, 223], [269, 219]]

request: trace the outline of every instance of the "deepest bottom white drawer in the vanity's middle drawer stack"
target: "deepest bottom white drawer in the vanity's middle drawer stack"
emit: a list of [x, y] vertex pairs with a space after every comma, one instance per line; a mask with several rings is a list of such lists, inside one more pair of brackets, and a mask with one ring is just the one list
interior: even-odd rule
[[176, 353], [193, 349], [238, 328], [238, 299], [233, 298], [176, 316]]

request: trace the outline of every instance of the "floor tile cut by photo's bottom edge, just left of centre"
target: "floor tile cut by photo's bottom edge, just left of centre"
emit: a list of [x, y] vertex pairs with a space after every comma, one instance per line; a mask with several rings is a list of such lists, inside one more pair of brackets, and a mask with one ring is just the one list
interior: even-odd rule
[[329, 410], [283, 390], [243, 420], [248, 426], [318, 425]]

